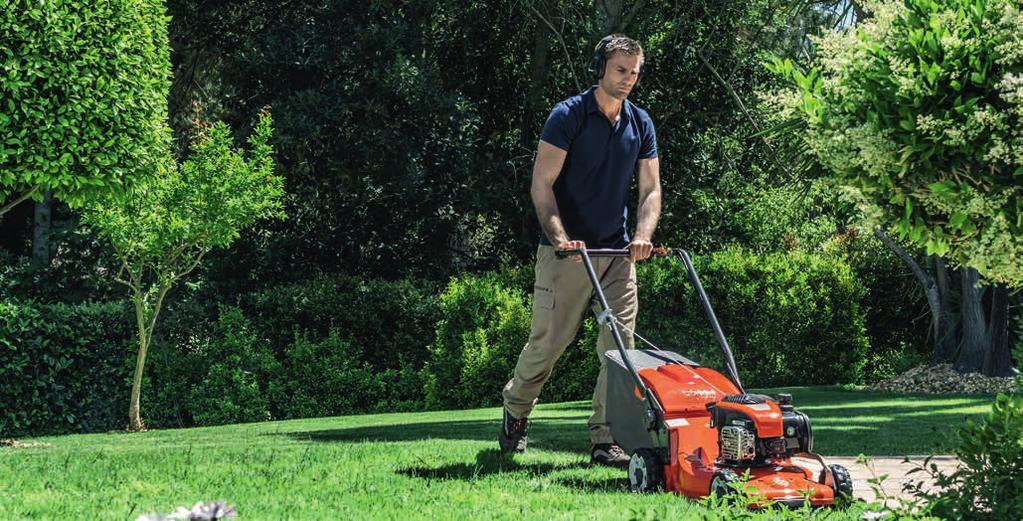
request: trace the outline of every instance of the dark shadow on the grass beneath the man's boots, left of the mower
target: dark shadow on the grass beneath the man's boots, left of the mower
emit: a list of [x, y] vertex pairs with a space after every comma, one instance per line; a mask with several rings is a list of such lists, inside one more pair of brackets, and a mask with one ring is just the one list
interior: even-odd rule
[[[476, 462], [472, 464], [407, 467], [396, 473], [419, 479], [475, 481], [495, 474], [525, 473], [529, 476], [547, 476], [559, 471], [589, 468], [591, 465], [583, 463], [520, 464], [513, 454], [505, 454], [496, 448], [488, 448], [477, 452]], [[586, 479], [581, 476], [565, 476], [554, 478], [553, 481], [566, 487], [590, 492], [625, 492], [629, 489], [628, 479], [624, 472], [620, 478]]]

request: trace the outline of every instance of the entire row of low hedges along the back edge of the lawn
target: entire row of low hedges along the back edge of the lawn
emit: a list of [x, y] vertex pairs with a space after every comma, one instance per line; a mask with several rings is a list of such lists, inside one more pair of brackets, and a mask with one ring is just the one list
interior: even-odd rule
[[[695, 259], [750, 387], [860, 382], [862, 289], [841, 260], [727, 250]], [[712, 367], [720, 355], [680, 263], [638, 269], [638, 331]], [[497, 405], [529, 336], [525, 268], [414, 280], [331, 276], [237, 306], [182, 298], [149, 358], [151, 427]], [[438, 297], [439, 295], [439, 297]], [[123, 426], [136, 344], [126, 304], [0, 307], [3, 434]], [[599, 360], [584, 320], [542, 394], [587, 399]], [[642, 347], [637, 341], [637, 347]]]

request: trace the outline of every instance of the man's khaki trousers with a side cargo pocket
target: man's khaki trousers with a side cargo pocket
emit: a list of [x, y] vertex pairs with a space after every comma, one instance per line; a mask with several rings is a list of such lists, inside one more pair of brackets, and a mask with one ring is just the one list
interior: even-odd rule
[[[638, 304], [635, 266], [620, 257], [590, 260], [615, 316], [630, 331], [635, 329]], [[553, 247], [540, 246], [536, 252], [529, 342], [519, 354], [515, 376], [504, 386], [504, 407], [511, 416], [526, 418], [533, 410], [540, 389], [550, 378], [554, 362], [575, 339], [587, 309], [599, 312], [585, 266], [571, 259], [557, 258]], [[621, 334], [626, 349], [632, 349], [632, 335], [625, 331]], [[601, 372], [593, 388], [593, 414], [588, 421], [590, 441], [594, 444], [614, 441], [605, 415], [608, 371], [604, 352], [616, 348], [611, 329], [603, 325], [596, 340]]]

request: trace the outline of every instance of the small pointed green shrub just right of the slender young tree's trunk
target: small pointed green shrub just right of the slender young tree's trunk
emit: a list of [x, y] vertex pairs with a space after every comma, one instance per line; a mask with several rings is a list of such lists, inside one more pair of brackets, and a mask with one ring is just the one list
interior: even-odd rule
[[196, 425], [223, 425], [270, 419], [268, 384], [277, 363], [241, 310], [225, 306], [204, 353], [208, 367], [191, 388], [188, 403]]

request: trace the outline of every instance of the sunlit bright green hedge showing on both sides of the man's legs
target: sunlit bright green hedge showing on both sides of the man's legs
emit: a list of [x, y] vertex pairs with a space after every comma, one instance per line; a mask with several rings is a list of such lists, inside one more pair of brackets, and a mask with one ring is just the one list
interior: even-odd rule
[[[747, 386], [858, 383], [869, 357], [863, 290], [843, 261], [805, 253], [726, 250], [695, 260]], [[581, 268], [580, 268], [581, 269]], [[639, 265], [638, 333], [660, 348], [723, 367], [677, 260]], [[518, 276], [456, 277], [424, 373], [430, 407], [497, 405], [529, 336], [530, 304]], [[588, 318], [554, 366], [544, 401], [585, 399], [599, 361]], [[636, 340], [637, 348], [644, 345]]]

